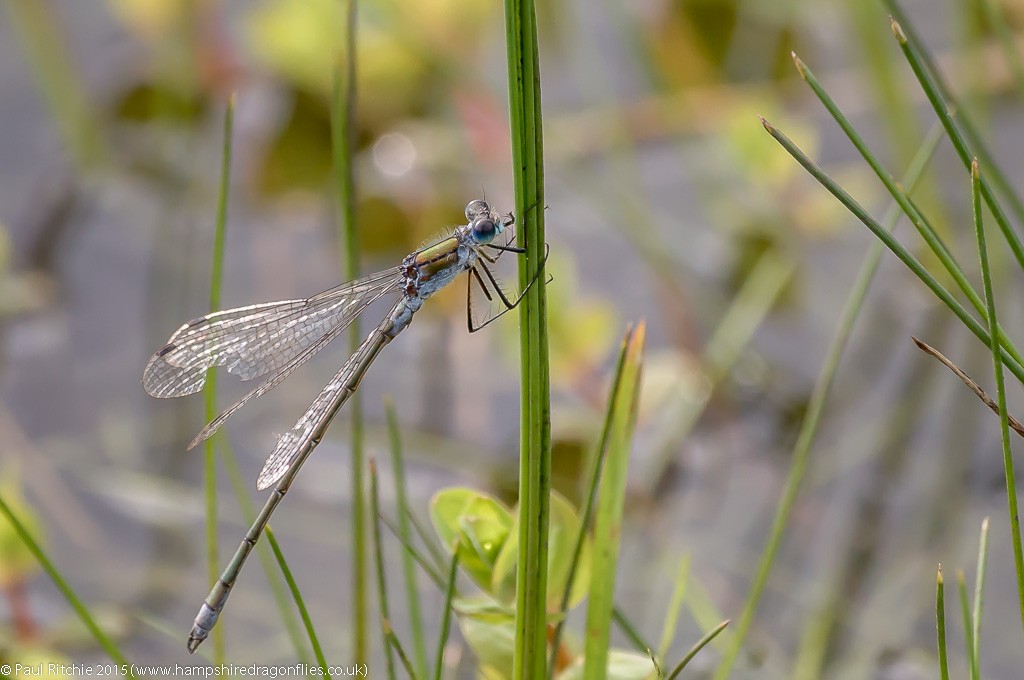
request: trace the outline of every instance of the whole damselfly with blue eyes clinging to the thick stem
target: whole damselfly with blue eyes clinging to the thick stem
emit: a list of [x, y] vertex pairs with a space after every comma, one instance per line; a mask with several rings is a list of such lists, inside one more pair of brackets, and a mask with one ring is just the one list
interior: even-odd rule
[[[399, 296], [384, 321], [371, 331], [328, 382], [295, 427], [278, 438], [278, 447], [267, 458], [256, 482], [261, 491], [273, 485], [273, 492], [203, 602], [188, 636], [188, 651], [196, 651], [217, 623], [242, 564], [302, 463], [324, 437], [335, 414], [358, 387], [362, 375], [384, 345], [406, 330], [423, 301], [460, 273], [469, 272], [467, 313], [472, 333], [518, 305], [537, 281], [543, 260], [529, 286], [519, 295], [509, 296], [488, 266], [497, 263], [502, 253], [526, 252], [512, 246], [510, 227], [515, 218], [511, 213], [501, 215], [485, 202], [472, 201], [466, 206], [466, 220], [467, 223], [456, 227], [451, 236], [408, 255], [399, 266], [342, 284], [306, 300], [254, 304], [190, 321], [150, 358], [142, 373], [142, 385], [145, 391], [159, 397], [198, 392], [206, 382], [207, 370], [216, 366], [226, 366], [228, 373], [242, 380], [270, 376], [203, 428], [188, 444], [191, 450], [216, 432], [247, 401], [265, 393], [309, 360], [370, 304], [388, 295]], [[504, 243], [495, 243], [506, 231], [508, 237]], [[487, 302], [498, 305], [500, 311], [474, 320], [474, 295], [483, 295]]]

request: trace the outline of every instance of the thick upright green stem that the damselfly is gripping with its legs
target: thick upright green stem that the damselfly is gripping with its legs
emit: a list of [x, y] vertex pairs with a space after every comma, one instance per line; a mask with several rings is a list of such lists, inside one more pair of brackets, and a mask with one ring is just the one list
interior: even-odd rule
[[545, 277], [544, 151], [537, 13], [532, 0], [505, 1], [509, 122], [519, 259], [519, 287], [529, 290], [519, 323], [521, 357], [519, 562], [513, 675], [541, 678], [545, 670], [548, 514], [551, 487], [551, 397]]

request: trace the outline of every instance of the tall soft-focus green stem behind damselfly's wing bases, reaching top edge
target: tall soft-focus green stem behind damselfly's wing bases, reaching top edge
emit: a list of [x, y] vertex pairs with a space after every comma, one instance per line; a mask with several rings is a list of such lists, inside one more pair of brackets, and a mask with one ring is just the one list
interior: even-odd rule
[[[338, 242], [344, 262], [343, 274], [351, 281], [359, 272], [359, 248], [355, 231], [355, 30], [356, 0], [345, 3], [342, 27], [344, 45], [334, 67], [334, 92], [331, 98], [331, 141], [334, 156], [334, 179], [337, 192]], [[352, 351], [359, 345], [359, 324], [348, 330]], [[367, 528], [366, 476], [362, 452], [362, 401], [358, 394], [350, 398], [352, 414], [352, 654], [356, 663], [369, 663], [367, 627]]]

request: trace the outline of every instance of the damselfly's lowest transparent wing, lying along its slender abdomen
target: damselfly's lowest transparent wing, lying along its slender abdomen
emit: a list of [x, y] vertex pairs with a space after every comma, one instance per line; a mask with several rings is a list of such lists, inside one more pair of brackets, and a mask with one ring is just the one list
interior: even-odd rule
[[334, 378], [321, 390], [306, 412], [299, 417], [295, 427], [278, 437], [278, 445], [263, 464], [256, 480], [256, 488], [263, 491], [278, 483], [296, 465], [304, 452], [323, 435], [335, 414], [355, 390], [370, 363], [386, 344], [380, 330], [371, 333], [358, 349], [345, 362]]

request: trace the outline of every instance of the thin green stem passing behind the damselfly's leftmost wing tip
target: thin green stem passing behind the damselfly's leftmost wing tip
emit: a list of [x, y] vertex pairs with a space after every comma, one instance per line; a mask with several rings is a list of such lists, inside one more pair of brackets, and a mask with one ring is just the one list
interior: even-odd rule
[[[227, 231], [227, 185], [231, 175], [231, 130], [234, 127], [234, 94], [227, 97], [224, 110], [224, 138], [220, 163], [220, 193], [217, 197], [217, 223], [213, 236], [213, 264], [210, 267], [210, 311], [220, 308], [220, 289], [224, 279], [224, 235]], [[217, 417], [217, 374], [210, 370], [203, 388], [203, 411], [206, 422]], [[207, 576], [210, 583], [220, 577], [217, 555], [217, 454], [214, 435], [203, 442], [203, 457], [206, 467], [206, 557]], [[224, 660], [223, 627], [213, 629], [213, 657], [217, 664]]]

